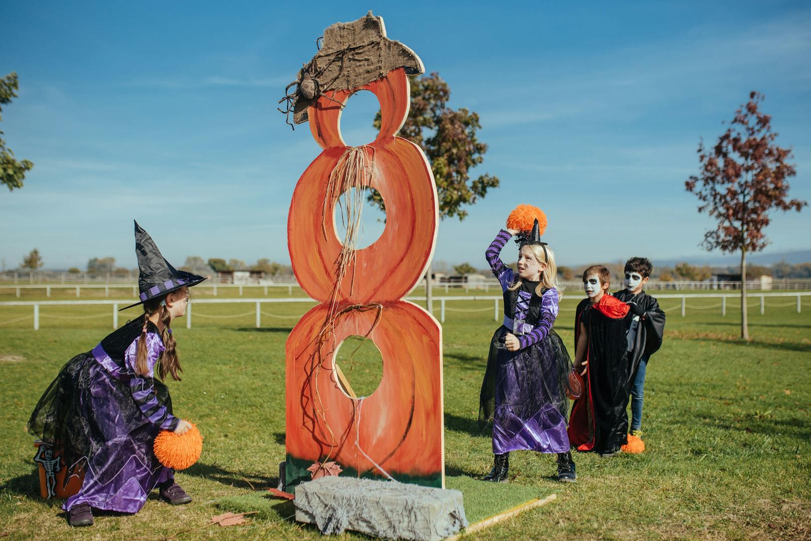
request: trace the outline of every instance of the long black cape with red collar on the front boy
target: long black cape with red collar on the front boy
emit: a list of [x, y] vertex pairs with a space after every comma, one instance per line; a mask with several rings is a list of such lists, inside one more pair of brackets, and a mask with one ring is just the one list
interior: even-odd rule
[[629, 307], [609, 294], [592, 305], [577, 305], [574, 343], [580, 324], [586, 327], [586, 386], [574, 401], [569, 420], [569, 441], [579, 451], [609, 453], [628, 443], [628, 406], [632, 356], [626, 333], [633, 317]]

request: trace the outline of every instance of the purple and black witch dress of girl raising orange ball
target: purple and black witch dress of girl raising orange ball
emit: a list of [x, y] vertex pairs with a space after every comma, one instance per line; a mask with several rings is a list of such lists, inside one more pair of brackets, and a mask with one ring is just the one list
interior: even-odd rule
[[[513, 291], [508, 289], [517, 276], [499, 253], [511, 236], [502, 229], [486, 252], [504, 292], [504, 325], [491, 341], [479, 397], [479, 426], [492, 421], [494, 454], [521, 449], [566, 453], [566, 390], [572, 361], [563, 340], [552, 330], [558, 292], [547, 289], [538, 296], [538, 282], [528, 280]], [[518, 351], [504, 347], [508, 332], [516, 335]]]

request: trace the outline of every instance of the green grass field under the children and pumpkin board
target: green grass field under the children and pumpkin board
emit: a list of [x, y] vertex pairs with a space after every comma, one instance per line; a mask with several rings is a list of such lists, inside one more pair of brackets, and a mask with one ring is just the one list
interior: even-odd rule
[[[124, 292], [117, 296], [127, 297]], [[556, 324], [567, 344], [573, 339], [576, 302], [564, 300]], [[689, 300], [687, 317], [680, 317], [679, 300], [662, 301], [669, 319], [664, 346], [648, 367], [645, 454], [578, 454], [578, 482], [561, 486], [551, 479], [552, 457], [516, 453], [510, 492], [468, 479], [489, 471], [492, 460], [490, 439], [478, 432], [475, 422], [487, 343], [496, 326], [492, 302], [448, 302], [448, 485], [472, 485], [466, 498], [476, 516], [503, 504], [510, 494], [527, 499], [558, 495], [556, 501], [470, 539], [809, 538], [811, 300], [800, 314], [792, 298], [769, 299], [765, 315], [753, 302], [750, 343], [736, 339], [736, 302], [728, 302], [727, 317], [721, 317], [718, 304], [715, 299]], [[29, 316], [30, 307], [0, 307], [0, 535], [319, 538], [313, 527], [290, 520], [289, 502], [269, 500], [260, 490], [275, 486], [277, 464], [284, 458], [284, 343], [307, 305], [264, 305], [258, 330], [253, 308], [195, 305], [193, 328], [187, 330], [182, 320], [176, 325], [185, 373], [183, 381], [169, 384], [175, 411], [198, 423], [205, 438], [200, 462], [178, 474], [195, 501], [174, 508], [152, 496], [135, 516], [101, 515], [96, 526], [71, 530], [59, 510], [61, 502], [37, 496], [32, 438], [24, 425], [62, 364], [109, 332], [110, 309], [44, 307], [41, 330], [34, 331], [30, 319], [3, 325]], [[375, 348], [364, 345], [351, 362], [345, 353], [350, 347], [341, 349], [345, 356], [338, 362], [345, 372], [351, 370], [353, 386], [374, 388], [380, 370]], [[212, 515], [225, 510], [260, 513], [251, 515], [246, 526], [207, 526]]]

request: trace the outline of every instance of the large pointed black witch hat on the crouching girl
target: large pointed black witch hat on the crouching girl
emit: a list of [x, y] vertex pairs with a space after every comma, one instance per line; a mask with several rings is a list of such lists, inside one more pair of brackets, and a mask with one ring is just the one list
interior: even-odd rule
[[[135, 220], [133, 220], [135, 221]], [[152, 297], [163, 296], [183, 286], [191, 288], [205, 277], [171, 266], [157, 249], [155, 241], [144, 228], [135, 222], [135, 255], [138, 256], [138, 290], [140, 300], [122, 310], [138, 306]], [[120, 310], [119, 310], [120, 311]]]

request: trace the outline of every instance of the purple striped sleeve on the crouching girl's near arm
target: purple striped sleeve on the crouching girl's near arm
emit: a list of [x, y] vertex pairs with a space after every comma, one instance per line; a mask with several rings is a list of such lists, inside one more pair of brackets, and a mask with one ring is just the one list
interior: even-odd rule
[[155, 383], [152, 379], [154, 377], [155, 364], [165, 347], [157, 334], [147, 333], [148, 374], [146, 376], [139, 376], [135, 373], [135, 354], [136, 351], [138, 351], [139, 339], [140, 337], [135, 339], [124, 353], [124, 364], [127, 365], [127, 369], [133, 374], [130, 379], [130, 394], [132, 394], [132, 399], [135, 400], [138, 409], [150, 423], [157, 424], [157, 426], [164, 430], [174, 430], [178, 428], [180, 420], [170, 414], [169, 410], [167, 410], [165, 406], [161, 406], [161, 403], [157, 401]]

